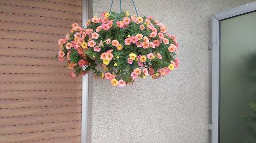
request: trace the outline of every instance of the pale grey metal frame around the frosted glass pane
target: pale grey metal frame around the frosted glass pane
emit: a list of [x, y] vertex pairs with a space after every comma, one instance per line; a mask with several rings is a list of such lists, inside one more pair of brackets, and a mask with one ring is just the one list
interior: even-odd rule
[[220, 21], [256, 11], [256, 2], [212, 16], [212, 119], [211, 143], [219, 143], [220, 120]]

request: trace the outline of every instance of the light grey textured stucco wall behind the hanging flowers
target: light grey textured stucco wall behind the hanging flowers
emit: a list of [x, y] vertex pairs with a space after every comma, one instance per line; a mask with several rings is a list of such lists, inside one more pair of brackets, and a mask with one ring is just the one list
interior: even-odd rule
[[[93, 15], [109, 11], [111, 0], [92, 0]], [[114, 87], [93, 79], [89, 117], [92, 142], [210, 142], [212, 15], [250, 3], [246, 0], [149, 1], [135, 4], [140, 16], [153, 16], [177, 36], [180, 67], [167, 77], [136, 79]], [[120, 1], [112, 10], [119, 12]], [[132, 0], [122, 10], [136, 14]], [[92, 75], [90, 76], [92, 77]]]

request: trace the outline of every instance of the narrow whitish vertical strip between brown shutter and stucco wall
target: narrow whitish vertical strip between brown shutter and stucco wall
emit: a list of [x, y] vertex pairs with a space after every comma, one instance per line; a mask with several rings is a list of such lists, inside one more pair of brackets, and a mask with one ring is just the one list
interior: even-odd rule
[[[88, 19], [88, 0], [82, 0], [82, 26], [86, 26]], [[83, 66], [83, 69], [86, 67]], [[87, 143], [88, 121], [88, 74], [82, 76], [82, 125], [81, 143]]]

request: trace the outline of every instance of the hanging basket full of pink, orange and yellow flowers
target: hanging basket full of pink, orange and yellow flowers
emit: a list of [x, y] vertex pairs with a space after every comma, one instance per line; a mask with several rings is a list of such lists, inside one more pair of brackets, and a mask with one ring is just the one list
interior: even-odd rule
[[58, 41], [56, 58], [63, 61], [67, 57], [68, 68], [74, 70], [72, 77], [93, 71], [95, 78], [123, 87], [136, 78], [150, 75], [157, 79], [179, 67], [175, 58], [179, 43], [175, 35], [166, 33], [164, 24], [123, 11], [101, 16], [89, 19], [86, 28], [73, 23], [71, 34]]

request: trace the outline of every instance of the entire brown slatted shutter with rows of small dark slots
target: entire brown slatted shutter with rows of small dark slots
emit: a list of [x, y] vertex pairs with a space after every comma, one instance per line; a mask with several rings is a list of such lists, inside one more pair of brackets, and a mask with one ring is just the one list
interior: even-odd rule
[[0, 142], [80, 142], [82, 78], [55, 59], [82, 0], [0, 0]]

